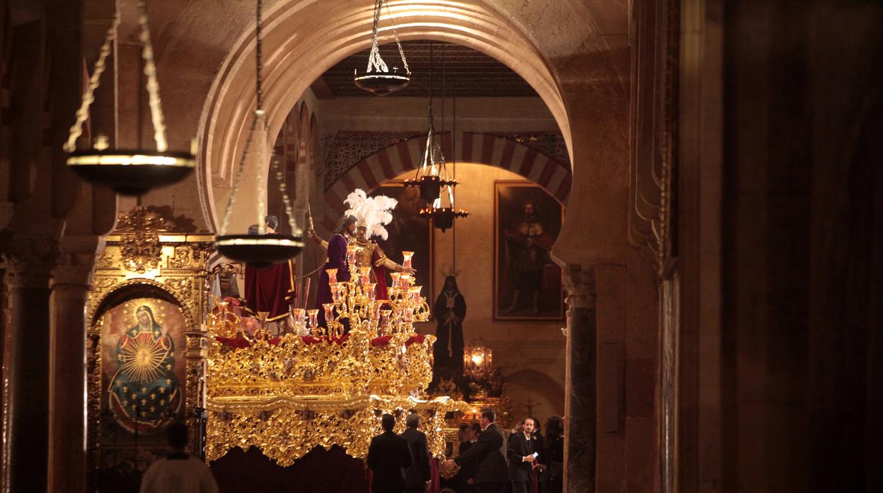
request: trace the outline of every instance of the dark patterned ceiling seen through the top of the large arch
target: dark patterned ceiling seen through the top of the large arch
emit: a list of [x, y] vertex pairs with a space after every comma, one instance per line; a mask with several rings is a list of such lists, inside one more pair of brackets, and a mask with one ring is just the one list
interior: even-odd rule
[[[430, 87], [441, 97], [442, 85], [447, 97], [538, 97], [525, 79], [506, 65], [474, 49], [441, 41], [402, 42], [405, 59], [411, 69], [411, 84], [389, 97], [427, 97]], [[377, 97], [352, 82], [353, 71], [364, 72], [369, 50], [344, 58], [313, 84], [320, 99], [344, 96]], [[396, 43], [381, 46], [383, 61], [402, 71], [402, 59]], [[431, 61], [431, 63], [430, 63]], [[432, 70], [430, 70], [430, 67]]]

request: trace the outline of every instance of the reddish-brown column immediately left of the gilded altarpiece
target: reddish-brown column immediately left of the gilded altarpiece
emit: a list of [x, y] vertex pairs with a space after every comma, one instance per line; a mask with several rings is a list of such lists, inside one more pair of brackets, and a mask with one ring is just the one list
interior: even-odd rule
[[97, 238], [65, 238], [52, 271], [49, 323], [49, 491], [86, 488], [86, 299]]

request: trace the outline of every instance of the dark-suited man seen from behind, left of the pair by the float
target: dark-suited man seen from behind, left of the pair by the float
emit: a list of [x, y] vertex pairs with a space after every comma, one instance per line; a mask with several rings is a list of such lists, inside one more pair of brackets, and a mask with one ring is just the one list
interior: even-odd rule
[[372, 493], [402, 493], [404, 491], [404, 469], [411, 467], [411, 449], [408, 440], [393, 433], [396, 418], [383, 415], [383, 433], [371, 439], [368, 445], [368, 467], [374, 477], [371, 479]]

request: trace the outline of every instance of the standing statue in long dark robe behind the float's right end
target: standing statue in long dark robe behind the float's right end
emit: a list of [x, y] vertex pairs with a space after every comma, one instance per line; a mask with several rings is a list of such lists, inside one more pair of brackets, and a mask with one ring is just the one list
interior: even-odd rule
[[463, 319], [466, 317], [466, 300], [457, 288], [457, 278], [449, 275], [444, 288], [435, 299], [433, 315], [438, 320], [435, 329], [433, 360], [436, 369], [456, 368], [463, 372]]

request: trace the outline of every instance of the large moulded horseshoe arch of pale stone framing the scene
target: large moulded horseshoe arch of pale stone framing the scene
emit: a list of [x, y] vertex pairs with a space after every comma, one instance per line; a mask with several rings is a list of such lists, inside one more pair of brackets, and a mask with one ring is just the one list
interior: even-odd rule
[[[468, 46], [508, 65], [546, 102], [570, 149], [570, 123], [562, 93], [540, 49], [525, 32], [491, 4], [451, 4], [434, 0], [402, 0], [389, 5], [397, 31], [404, 40], [433, 39]], [[373, 12], [364, 5], [343, 0], [280, 2], [264, 20], [265, 105], [268, 135], [275, 136], [288, 110], [306, 88], [345, 56], [366, 49], [370, 43]], [[389, 27], [381, 27], [389, 31]], [[382, 35], [388, 36], [388, 32]], [[232, 163], [245, 145], [253, 97], [253, 26], [248, 28], [226, 57], [200, 116], [200, 173], [208, 183], [229, 186]], [[249, 170], [240, 184], [245, 195], [256, 190], [264, 168]], [[214, 187], [212, 187], [214, 189]], [[215, 190], [205, 190], [202, 201], [211, 219], [218, 220]], [[229, 190], [218, 190], [218, 199]], [[235, 222], [235, 220], [233, 221]], [[245, 224], [231, 224], [245, 228]]]

